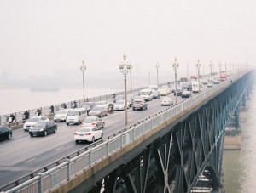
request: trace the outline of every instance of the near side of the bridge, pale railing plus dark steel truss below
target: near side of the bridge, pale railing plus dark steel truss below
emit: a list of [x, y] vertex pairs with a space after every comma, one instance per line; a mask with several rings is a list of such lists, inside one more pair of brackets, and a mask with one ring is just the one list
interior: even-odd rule
[[224, 128], [252, 82], [234, 75], [5, 192], [220, 192]]

